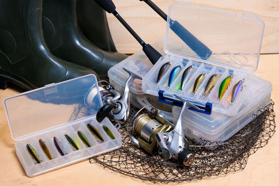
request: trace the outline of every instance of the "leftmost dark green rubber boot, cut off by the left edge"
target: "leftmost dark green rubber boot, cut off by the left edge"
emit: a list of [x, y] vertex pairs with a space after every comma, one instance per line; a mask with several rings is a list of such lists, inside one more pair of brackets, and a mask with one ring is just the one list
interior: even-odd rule
[[0, 0], [0, 87], [26, 90], [95, 74], [53, 56], [43, 38], [43, 0]]

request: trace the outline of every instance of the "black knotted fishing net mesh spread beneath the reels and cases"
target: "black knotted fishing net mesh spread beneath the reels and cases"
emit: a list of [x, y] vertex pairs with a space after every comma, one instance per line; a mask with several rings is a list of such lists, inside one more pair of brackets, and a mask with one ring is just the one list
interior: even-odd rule
[[189, 150], [195, 153], [195, 160], [188, 168], [175, 160], [164, 161], [158, 156], [151, 156], [133, 145], [127, 132], [128, 129], [133, 133], [131, 118], [126, 126], [119, 129], [123, 146], [89, 161], [152, 183], [179, 183], [239, 171], [245, 168], [248, 157], [266, 146], [273, 136], [276, 129], [273, 104], [271, 102], [259, 109], [254, 119], [227, 141], [189, 141]]

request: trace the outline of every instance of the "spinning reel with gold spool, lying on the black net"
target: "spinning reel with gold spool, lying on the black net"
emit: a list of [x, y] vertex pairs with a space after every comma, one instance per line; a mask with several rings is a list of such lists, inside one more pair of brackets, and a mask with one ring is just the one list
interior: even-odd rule
[[[188, 107], [185, 100], [176, 95], [176, 98], [183, 102], [183, 108], [179, 114], [176, 125], [160, 116], [158, 109], [149, 109], [150, 114], [142, 114], [134, 121], [134, 130], [140, 134], [136, 144], [144, 148], [151, 155], [159, 155], [163, 160], [174, 158], [184, 166], [192, 164], [194, 155], [188, 150], [189, 143], [184, 138], [182, 128], [182, 114]], [[133, 141], [135, 138], [132, 137]]]

